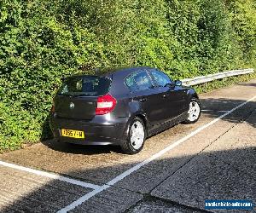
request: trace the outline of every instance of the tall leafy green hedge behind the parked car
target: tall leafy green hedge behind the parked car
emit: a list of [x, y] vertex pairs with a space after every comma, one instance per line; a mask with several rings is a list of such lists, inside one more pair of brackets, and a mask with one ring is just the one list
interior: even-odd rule
[[172, 78], [255, 67], [253, 0], [3, 0], [0, 150], [50, 136], [61, 78], [155, 66]]

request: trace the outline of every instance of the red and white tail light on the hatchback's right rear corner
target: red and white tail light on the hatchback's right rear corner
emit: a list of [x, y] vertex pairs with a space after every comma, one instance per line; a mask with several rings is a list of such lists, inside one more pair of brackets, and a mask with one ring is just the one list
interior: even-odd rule
[[109, 94], [99, 96], [97, 100], [96, 115], [103, 115], [108, 112], [112, 112], [115, 106], [116, 100], [113, 96]]

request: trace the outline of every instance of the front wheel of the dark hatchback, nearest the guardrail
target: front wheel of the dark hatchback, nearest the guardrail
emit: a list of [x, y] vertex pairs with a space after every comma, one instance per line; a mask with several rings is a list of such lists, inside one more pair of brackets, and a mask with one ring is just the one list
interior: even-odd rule
[[188, 118], [184, 120], [184, 124], [195, 124], [201, 115], [200, 101], [196, 98], [192, 98], [189, 101]]

